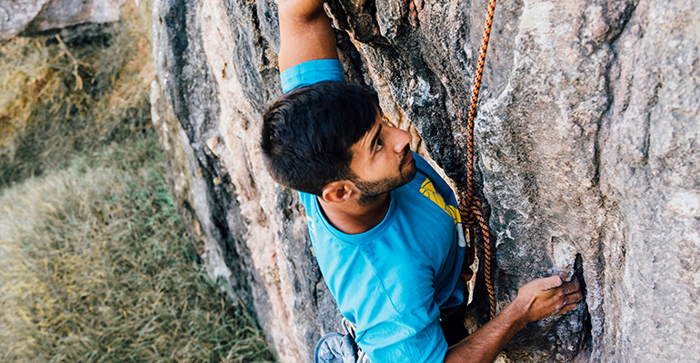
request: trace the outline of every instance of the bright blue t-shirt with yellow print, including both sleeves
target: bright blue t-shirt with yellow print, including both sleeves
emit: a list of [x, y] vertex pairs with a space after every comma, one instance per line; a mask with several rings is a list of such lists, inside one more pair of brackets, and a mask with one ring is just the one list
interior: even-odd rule
[[[337, 60], [297, 64], [281, 74], [283, 90], [345, 82], [342, 70]], [[455, 196], [423, 158], [413, 156], [415, 178], [389, 192], [384, 220], [364, 233], [336, 230], [315, 195], [299, 192], [325, 283], [373, 363], [442, 362], [447, 343], [440, 309], [464, 299], [459, 272], [465, 240]]]

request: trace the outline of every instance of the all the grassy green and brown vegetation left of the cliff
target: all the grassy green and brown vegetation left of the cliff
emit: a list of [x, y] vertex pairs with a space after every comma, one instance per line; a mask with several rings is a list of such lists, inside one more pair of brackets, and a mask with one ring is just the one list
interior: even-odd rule
[[0, 361], [275, 359], [167, 191], [138, 10], [96, 43], [0, 45]]

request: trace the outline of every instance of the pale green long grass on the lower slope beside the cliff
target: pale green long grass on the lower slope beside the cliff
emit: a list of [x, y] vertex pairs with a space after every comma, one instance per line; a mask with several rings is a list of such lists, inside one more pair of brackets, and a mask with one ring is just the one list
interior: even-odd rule
[[152, 134], [0, 194], [0, 360], [269, 361], [199, 267]]

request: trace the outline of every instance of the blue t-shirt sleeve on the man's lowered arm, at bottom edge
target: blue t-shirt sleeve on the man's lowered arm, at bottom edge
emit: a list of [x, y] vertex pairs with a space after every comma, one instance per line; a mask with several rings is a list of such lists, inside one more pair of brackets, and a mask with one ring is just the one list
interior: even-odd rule
[[420, 331], [406, 324], [410, 324], [410, 320], [410, 317], [401, 317], [365, 331], [359, 339], [359, 346], [371, 362], [435, 363], [445, 360], [447, 341], [439, 320], [433, 320]]

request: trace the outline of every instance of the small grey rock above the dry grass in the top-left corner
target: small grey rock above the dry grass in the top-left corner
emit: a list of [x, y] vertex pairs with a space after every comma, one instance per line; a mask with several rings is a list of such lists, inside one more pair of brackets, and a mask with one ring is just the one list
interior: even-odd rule
[[0, 0], [0, 39], [115, 22], [124, 4], [125, 0]]

